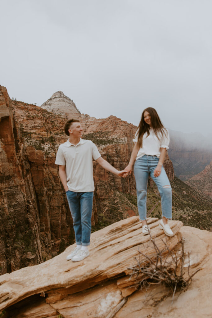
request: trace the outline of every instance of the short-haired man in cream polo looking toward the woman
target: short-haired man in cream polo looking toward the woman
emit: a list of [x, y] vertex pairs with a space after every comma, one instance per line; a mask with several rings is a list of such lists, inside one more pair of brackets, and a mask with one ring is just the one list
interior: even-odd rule
[[90, 245], [94, 191], [92, 159], [118, 176], [125, 177], [126, 171], [118, 171], [104, 160], [91, 140], [81, 139], [83, 129], [79, 120], [66, 121], [64, 130], [69, 139], [59, 146], [55, 164], [59, 165], [59, 176], [72, 214], [77, 245], [66, 259], [78, 262], [89, 256], [87, 246]]

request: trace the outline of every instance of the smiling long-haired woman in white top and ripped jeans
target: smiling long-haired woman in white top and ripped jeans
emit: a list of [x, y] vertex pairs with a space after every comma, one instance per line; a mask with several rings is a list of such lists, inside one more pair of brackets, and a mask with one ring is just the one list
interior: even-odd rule
[[152, 107], [144, 109], [138, 130], [133, 139], [134, 148], [128, 166], [125, 168], [129, 174], [132, 172], [133, 162], [136, 181], [138, 211], [142, 220], [142, 233], [149, 233], [147, 227], [147, 182], [149, 175], [156, 183], [161, 195], [162, 219], [159, 226], [168, 236], [174, 233], [168, 225], [172, 218], [172, 189], [167, 174], [163, 168], [166, 149], [169, 145], [168, 130], [163, 127], [161, 120]]

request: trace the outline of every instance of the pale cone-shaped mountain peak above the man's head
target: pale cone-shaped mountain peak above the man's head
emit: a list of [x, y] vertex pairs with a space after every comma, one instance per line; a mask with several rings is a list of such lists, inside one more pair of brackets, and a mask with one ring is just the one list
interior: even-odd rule
[[60, 114], [67, 119], [72, 117], [78, 118], [80, 115], [80, 112], [73, 100], [65, 96], [62, 91], [54, 93], [50, 99], [41, 105], [41, 108], [46, 109], [48, 112]]

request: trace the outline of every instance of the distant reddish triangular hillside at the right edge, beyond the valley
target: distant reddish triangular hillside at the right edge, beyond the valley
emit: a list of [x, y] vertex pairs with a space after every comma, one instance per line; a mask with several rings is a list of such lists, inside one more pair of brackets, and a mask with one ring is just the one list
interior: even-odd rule
[[203, 171], [186, 181], [188, 185], [212, 198], [212, 161]]

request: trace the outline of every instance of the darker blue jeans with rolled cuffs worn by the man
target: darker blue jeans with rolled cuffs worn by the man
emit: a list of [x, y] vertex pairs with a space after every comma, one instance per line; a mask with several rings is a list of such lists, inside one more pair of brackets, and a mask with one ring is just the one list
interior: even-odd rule
[[90, 245], [93, 192], [66, 191], [77, 245]]

